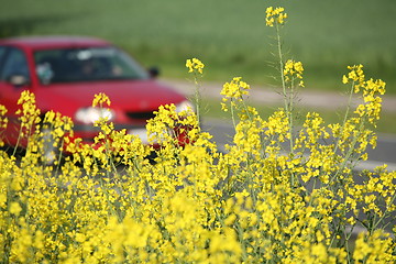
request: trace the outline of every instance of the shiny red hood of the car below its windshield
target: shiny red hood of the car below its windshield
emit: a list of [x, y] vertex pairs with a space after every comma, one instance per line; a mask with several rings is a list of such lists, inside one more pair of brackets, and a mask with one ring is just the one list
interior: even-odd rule
[[121, 111], [153, 111], [161, 105], [178, 103], [185, 97], [156, 80], [117, 80], [52, 84], [35, 91], [38, 108], [73, 117], [77, 109], [92, 105], [95, 95], [103, 92], [111, 108]]

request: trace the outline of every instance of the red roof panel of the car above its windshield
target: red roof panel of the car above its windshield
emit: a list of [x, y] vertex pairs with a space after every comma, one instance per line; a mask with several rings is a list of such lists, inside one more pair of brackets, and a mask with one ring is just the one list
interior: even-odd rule
[[20, 36], [0, 40], [0, 45], [14, 45], [32, 50], [73, 47], [73, 46], [108, 46], [110, 43], [96, 37], [86, 36]]

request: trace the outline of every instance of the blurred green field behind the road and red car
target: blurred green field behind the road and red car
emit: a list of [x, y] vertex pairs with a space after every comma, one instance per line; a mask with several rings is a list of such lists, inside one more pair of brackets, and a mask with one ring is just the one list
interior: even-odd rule
[[[307, 90], [343, 92], [346, 66], [363, 64], [367, 77], [396, 95], [395, 0], [0, 0], [0, 36], [89, 35], [124, 48], [162, 78], [186, 79], [185, 62], [206, 64], [205, 80], [242, 76], [251, 85], [278, 82], [270, 6], [285, 7], [285, 57], [305, 65]], [[396, 120], [395, 113], [384, 113]], [[393, 127], [393, 129], [389, 129]], [[381, 125], [396, 132], [396, 125]]]

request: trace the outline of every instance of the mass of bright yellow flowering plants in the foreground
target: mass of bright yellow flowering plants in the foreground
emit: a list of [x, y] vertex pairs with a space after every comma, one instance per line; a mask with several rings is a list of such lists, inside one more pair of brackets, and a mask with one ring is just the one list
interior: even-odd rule
[[[277, 36], [286, 19], [283, 8], [266, 10]], [[196, 111], [164, 106], [146, 125], [158, 150], [106, 119], [96, 123], [98, 147], [72, 141], [70, 119], [47, 112], [41, 120], [34, 95], [23, 91], [25, 153], [0, 152], [0, 262], [394, 263], [396, 229], [384, 220], [395, 213], [396, 173], [384, 165], [353, 175], [375, 146], [371, 129], [385, 82], [350, 66], [342, 81], [362, 103], [328, 125], [310, 112], [297, 129], [293, 100], [304, 87], [304, 66], [284, 59], [278, 43], [285, 106], [264, 120], [245, 105], [250, 86], [242, 78], [226, 82], [222, 109], [235, 129], [227, 153], [199, 125], [205, 65], [197, 58], [186, 63]], [[92, 101], [110, 103], [103, 94]], [[6, 112], [0, 108], [1, 128]], [[184, 146], [173, 134], [179, 124], [189, 128]], [[59, 150], [53, 165], [42, 155], [43, 127]], [[358, 227], [365, 232], [352, 240]]]

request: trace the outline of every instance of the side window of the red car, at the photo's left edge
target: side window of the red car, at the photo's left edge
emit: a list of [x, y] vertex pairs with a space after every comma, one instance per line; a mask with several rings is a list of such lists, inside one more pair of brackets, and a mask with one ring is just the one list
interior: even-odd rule
[[[1, 55], [0, 55], [1, 56]], [[4, 55], [0, 79], [10, 80], [13, 76], [22, 76], [29, 80], [29, 67], [24, 53], [19, 48], [10, 48]]]

